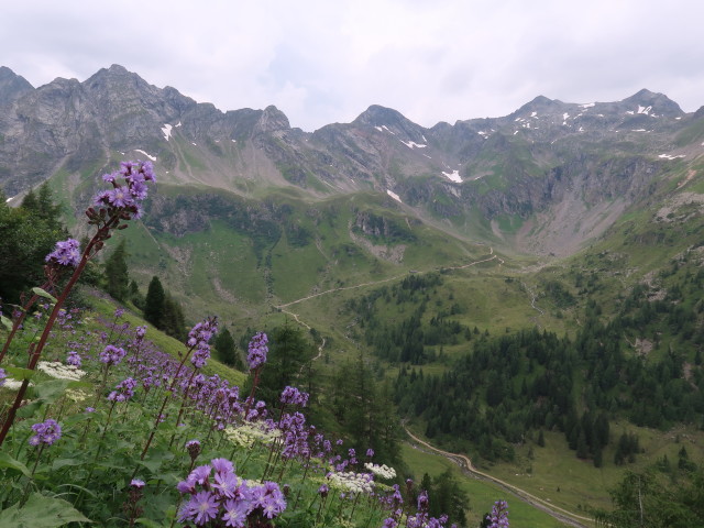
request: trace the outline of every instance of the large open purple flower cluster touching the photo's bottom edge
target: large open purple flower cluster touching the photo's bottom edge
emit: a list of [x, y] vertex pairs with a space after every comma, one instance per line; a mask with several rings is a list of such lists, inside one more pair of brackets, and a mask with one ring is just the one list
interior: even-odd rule
[[250, 520], [273, 519], [286, 509], [278, 484], [265, 482], [249, 486], [238, 477], [232, 462], [227, 459], [213, 459], [210, 464], [199, 465], [176, 488], [182, 495], [190, 495], [178, 513], [178, 520], [193, 521], [196, 526], [215, 520], [219, 521], [218, 526], [243, 528], [251, 526]]

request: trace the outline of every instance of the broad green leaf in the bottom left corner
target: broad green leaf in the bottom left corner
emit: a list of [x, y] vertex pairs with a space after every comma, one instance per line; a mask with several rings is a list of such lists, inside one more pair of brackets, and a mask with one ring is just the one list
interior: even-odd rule
[[19, 503], [0, 512], [0, 526], [14, 528], [57, 528], [69, 522], [92, 522], [63, 498], [33, 493], [22, 507]]

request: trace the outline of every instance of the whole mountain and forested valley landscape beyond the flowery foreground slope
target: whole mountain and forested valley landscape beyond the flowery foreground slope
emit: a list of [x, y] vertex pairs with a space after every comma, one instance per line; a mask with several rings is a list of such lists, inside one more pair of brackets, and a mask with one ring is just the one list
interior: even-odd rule
[[48, 182], [81, 237], [100, 175], [147, 158], [131, 277], [193, 321], [305, 328], [329, 402], [359, 360], [415, 433], [584, 515], [628, 464], [704, 460], [704, 107], [539, 96], [424, 128], [371, 106], [305, 132], [118, 65], [0, 67], [10, 205]]

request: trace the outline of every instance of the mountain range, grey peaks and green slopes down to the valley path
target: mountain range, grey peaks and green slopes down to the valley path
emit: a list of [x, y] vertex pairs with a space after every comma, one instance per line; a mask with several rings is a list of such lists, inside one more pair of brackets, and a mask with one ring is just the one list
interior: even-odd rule
[[652, 207], [656, 221], [701, 207], [702, 154], [704, 107], [685, 113], [647, 89], [615, 102], [539, 96], [509, 116], [429, 129], [371, 106], [308, 133], [273, 106], [222, 112], [119, 65], [38, 88], [0, 67], [6, 195], [48, 180], [80, 229], [97, 176], [150, 158], [160, 187], [131, 235], [136, 270], [224, 304], [460, 263], [484, 244], [568, 256], [629, 211]]

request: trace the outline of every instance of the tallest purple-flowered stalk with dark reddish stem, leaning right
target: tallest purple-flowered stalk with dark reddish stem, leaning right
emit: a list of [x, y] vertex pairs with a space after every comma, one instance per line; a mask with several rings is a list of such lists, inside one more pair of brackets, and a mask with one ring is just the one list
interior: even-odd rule
[[[74, 239], [57, 242], [56, 249], [46, 255], [45, 275], [50, 284], [54, 284], [61, 273], [65, 270], [74, 268], [66, 286], [54, 304], [54, 308], [48, 316], [44, 331], [36, 345], [30, 344], [26, 369], [33, 371], [40, 361], [42, 351], [46, 345], [54, 322], [58, 317], [68, 294], [74, 288], [76, 282], [84, 272], [88, 261], [94, 257], [105, 245], [105, 241], [112, 237], [113, 230], [125, 229], [127, 220], [139, 218], [141, 215], [140, 204], [146, 198], [146, 184], [155, 182], [154, 168], [151, 162], [123, 162], [120, 170], [106, 174], [102, 179], [112, 185], [112, 189], [99, 193], [94, 200], [94, 207], [86, 210], [88, 223], [97, 228], [96, 234], [86, 245], [82, 253], [79, 244]], [[124, 179], [121, 184], [118, 180]], [[8, 344], [9, 345], [9, 344]], [[26, 394], [30, 380], [24, 378], [16, 397], [8, 411], [2, 430], [0, 430], [0, 446], [4, 442], [22, 399]]]

